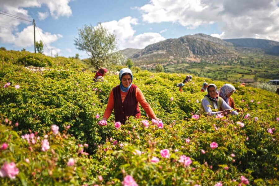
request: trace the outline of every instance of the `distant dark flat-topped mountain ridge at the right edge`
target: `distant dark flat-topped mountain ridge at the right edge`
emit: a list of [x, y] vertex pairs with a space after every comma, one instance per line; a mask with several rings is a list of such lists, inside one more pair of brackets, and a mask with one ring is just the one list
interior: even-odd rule
[[224, 41], [232, 43], [235, 47], [260, 48], [267, 54], [279, 55], [279, 42], [277, 41], [253, 38], [224, 39]]

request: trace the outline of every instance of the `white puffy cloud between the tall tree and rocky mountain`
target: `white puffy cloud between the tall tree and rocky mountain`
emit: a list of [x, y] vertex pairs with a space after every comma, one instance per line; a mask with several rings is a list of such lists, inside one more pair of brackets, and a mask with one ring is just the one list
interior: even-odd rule
[[159, 33], [145, 32], [135, 35], [135, 30], [132, 25], [138, 24], [137, 19], [125, 17], [118, 21], [101, 23], [110, 32], [116, 35], [119, 49], [125, 48], [144, 48], [147, 45], [165, 40]]

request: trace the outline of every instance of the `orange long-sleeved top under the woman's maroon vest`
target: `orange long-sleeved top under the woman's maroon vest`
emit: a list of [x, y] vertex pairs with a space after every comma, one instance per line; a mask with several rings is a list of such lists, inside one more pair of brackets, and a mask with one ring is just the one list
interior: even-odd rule
[[[126, 92], [122, 92], [121, 93], [121, 99], [122, 99], [122, 103], [125, 100], [125, 97], [127, 95]], [[155, 118], [156, 115], [153, 112], [151, 106], [148, 104], [148, 102], [146, 101], [143, 93], [141, 92], [141, 90], [137, 87], [136, 91], [135, 91], [135, 97], [137, 99], [137, 101], [139, 102], [139, 104], [143, 107], [144, 111], [148, 114], [148, 116], [150, 116], [151, 118]], [[111, 90], [109, 93], [109, 97], [108, 97], [108, 105], [107, 108], [104, 112], [104, 118], [108, 119], [109, 116], [111, 115], [112, 111], [114, 108], [114, 97], [113, 97], [113, 91]]]

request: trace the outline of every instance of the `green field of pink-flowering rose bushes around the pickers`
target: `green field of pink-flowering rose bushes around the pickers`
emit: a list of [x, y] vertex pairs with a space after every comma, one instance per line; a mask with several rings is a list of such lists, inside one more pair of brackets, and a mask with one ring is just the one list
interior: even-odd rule
[[279, 185], [277, 94], [233, 84], [239, 115], [196, 117], [203, 82], [229, 82], [194, 76], [180, 92], [186, 74], [132, 68], [163, 124], [142, 107], [141, 119], [99, 123], [120, 82], [85, 66], [0, 51], [0, 185]]

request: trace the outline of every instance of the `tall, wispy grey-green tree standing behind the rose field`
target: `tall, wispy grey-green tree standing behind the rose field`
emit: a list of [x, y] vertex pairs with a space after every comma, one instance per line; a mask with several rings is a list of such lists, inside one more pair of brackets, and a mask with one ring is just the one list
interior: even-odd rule
[[116, 36], [102, 26], [84, 25], [78, 29], [78, 38], [74, 45], [78, 50], [86, 51], [90, 63], [96, 69], [121, 64], [123, 56], [117, 51]]

